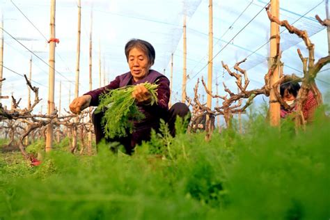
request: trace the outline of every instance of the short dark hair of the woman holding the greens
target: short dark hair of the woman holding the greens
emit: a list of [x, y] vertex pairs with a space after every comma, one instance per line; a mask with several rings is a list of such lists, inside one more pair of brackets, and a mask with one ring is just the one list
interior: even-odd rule
[[150, 65], [153, 65], [155, 63], [155, 58], [156, 58], [155, 48], [152, 47], [150, 42], [135, 38], [129, 40], [129, 42], [127, 42], [125, 45], [125, 55], [127, 62], [128, 62], [129, 51], [134, 47], [141, 49], [148, 56], [148, 61]]

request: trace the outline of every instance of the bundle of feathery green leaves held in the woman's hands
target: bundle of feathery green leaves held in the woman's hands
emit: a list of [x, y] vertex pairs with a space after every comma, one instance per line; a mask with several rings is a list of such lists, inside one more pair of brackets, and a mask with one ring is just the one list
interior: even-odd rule
[[[144, 87], [150, 93], [152, 105], [157, 103], [157, 84], [146, 82]], [[135, 98], [132, 96], [135, 86], [125, 86], [109, 91], [100, 97], [100, 104], [96, 111], [104, 111], [102, 125], [106, 138], [127, 136], [127, 132], [132, 133], [134, 121], [142, 120], [145, 116], [137, 107]]]

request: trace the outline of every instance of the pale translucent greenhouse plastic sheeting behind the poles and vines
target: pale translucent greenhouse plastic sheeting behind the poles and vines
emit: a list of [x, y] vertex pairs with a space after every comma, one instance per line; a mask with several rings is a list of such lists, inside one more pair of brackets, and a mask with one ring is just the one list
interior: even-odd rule
[[[269, 56], [270, 22], [264, 7], [267, 1], [213, 1], [213, 91], [222, 82], [236, 91], [235, 80], [221, 66], [230, 68], [237, 61], [247, 58], [241, 65], [248, 72], [249, 89], [264, 84]], [[3, 81], [2, 95], [22, 97], [26, 103], [25, 80], [21, 76], [29, 72], [32, 58], [33, 86], [40, 87], [42, 104], [47, 103], [49, 59], [50, 1], [0, 0], [3, 16]], [[324, 1], [280, 1], [280, 19], [287, 19], [299, 29], [308, 31], [315, 44], [315, 59], [328, 55], [327, 29], [315, 19], [326, 17]], [[152, 67], [170, 77], [173, 53], [173, 101], [181, 100], [183, 72], [183, 17], [187, 16], [187, 95], [194, 95], [198, 78], [207, 78], [209, 1], [157, 1], [157, 0], [81, 0], [81, 58], [79, 95], [88, 91], [89, 38], [93, 30], [93, 88], [100, 87], [99, 72], [109, 82], [116, 75], [128, 71], [124, 54], [125, 43], [131, 38], [141, 38], [156, 49], [156, 61]], [[93, 19], [91, 19], [93, 17]], [[91, 20], [93, 21], [91, 23]], [[308, 52], [304, 42], [283, 28], [281, 50], [284, 72], [302, 75], [302, 63], [297, 54]], [[62, 107], [68, 109], [74, 94], [74, 77], [77, 53], [77, 1], [56, 1], [56, 91], [58, 104], [59, 82], [62, 81]], [[33, 53], [32, 53], [33, 52]], [[100, 63], [101, 62], [101, 68]], [[329, 65], [317, 77], [322, 93], [329, 88]], [[21, 74], [21, 75], [19, 75]], [[205, 91], [200, 86], [201, 95]], [[205, 98], [206, 100], [206, 98]], [[259, 98], [260, 100], [260, 98]], [[10, 100], [2, 100], [10, 105]], [[23, 104], [24, 105], [24, 104]], [[39, 107], [40, 108], [40, 107]], [[46, 108], [44, 108], [46, 109]]]

